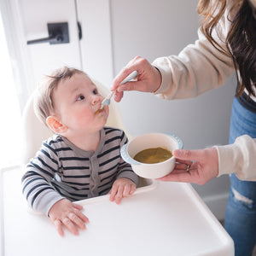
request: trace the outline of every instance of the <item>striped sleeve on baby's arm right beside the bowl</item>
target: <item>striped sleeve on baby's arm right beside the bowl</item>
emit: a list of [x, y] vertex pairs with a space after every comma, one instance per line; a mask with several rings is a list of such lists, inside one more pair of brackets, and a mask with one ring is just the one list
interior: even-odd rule
[[[121, 140], [120, 140], [120, 148], [122, 148], [123, 145], [125, 145], [125, 143], [128, 143], [128, 139], [125, 136], [125, 132], [122, 131], [122, 136], [121, 136]], [[138, 176], [135, 172], [133, 172], [131, 165], [126, 163], [125, 160], [122, 159], [122, 157], [120, 157], [120, 161], [119, 161], [119, 167], [118, 167], [118, 173], [116, 178], [119, 177], [126, 177], [131, 179], [131, 181], [133, 183], [136, 184], [136, 186], [138, 185]]]

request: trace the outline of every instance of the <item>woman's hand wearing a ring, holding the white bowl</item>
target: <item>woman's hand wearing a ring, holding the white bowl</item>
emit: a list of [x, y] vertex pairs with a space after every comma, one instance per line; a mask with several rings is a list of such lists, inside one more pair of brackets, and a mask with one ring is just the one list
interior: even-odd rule
[[205, 184], [218, 176], [218, 152], [216, 148], [200, 150], [177, 149], [172, 153], [177, 160], [174, 170], [161, 181]]

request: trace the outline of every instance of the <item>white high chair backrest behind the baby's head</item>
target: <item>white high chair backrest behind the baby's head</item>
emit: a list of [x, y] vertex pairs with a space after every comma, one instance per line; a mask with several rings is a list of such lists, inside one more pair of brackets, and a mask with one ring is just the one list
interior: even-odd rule
[[[102, 96], [107, 96], [109, 90], [96, 80], [92, 79], [96, 84], [100, 94]], [[23, 130], [23, 156], [22, 163], [26, 164], [32, 157], [35, 156], [38, 149], [41, 147], [42, 142], [51, 137], [53, 132], [49, 130], [36, 116], [33, 108], [33, 95], [30, 96], [28, 101], [26, 102], [26, 106], [24, 108], [23, 116], [22, 116], [22, 130]], [[121, 115], [119, 113], [119, 108], [117, 103], [114, 100], [111, 101], [109, 105], [109, 116], [108, 122], [106, 126], [112, 126], [125, 131], [125, 127], [123, 125]], [[125, 131], [127, 137], [130, 137], [127, 131]]]

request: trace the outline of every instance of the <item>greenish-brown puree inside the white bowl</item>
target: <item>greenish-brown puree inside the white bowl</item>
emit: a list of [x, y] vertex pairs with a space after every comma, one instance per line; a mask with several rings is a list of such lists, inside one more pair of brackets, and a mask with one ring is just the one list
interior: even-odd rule
[[137, 153], [134, 160], [144, 164], [156, 164], [172, 157], [172, 152], [165, 148], [147, 148]]

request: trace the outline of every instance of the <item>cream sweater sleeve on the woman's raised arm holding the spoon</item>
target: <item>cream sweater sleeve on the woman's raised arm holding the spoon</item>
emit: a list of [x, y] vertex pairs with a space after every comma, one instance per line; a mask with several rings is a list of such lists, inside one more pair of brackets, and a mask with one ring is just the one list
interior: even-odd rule
[[[229, 26], [230, 21], [225, 18], [212, 33], [224, 49]], [[155, 94], [169, 100], [199, 96], [223, 85], [235, 72], [231, 56], [218, 51], [200, 29], [195, 44], [189, 44], [177, 56], [158, 58], [153, 65], [162, 76], [162, 83]]]

